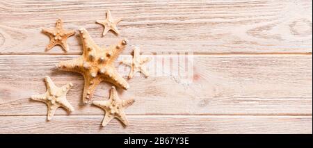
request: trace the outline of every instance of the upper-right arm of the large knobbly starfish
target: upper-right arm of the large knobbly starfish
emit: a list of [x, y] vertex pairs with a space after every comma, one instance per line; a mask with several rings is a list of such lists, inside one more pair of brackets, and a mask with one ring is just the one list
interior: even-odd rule
[[118, 58], [118, 56], [120, 56], [122, 51], [124, 51], [124, 49], [126, 48], [127, 42], [128, 40], [124, 39], [120, 41], [118, 44], [111, 45], [109, 47], [108, 51], [111, 53], [111, 56], [109, 57], [108, 60], [109, 63], [113, 62], [116, 58]]

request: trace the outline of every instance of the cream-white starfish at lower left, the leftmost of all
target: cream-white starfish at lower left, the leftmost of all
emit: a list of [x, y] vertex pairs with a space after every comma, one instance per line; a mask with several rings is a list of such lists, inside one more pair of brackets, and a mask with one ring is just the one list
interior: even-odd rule
[[70, 112], [74, 111], [73, 106], [67, 101], [66, 94], [68, 90], [73, 87], [72, 83], [67, 83], [61, 88], [56, 87], [54, 82], [49, 76], [45, 76], [45, 82], [47, 85], [47, 92], [45, 94], [38, 94], [31, 96], [31, 99], [35, 101], [42, 101], [47, 104], [48, 107], [48, 117], [47, 120], [50, 121], [56, 112], [56, 109], [63, 107]]

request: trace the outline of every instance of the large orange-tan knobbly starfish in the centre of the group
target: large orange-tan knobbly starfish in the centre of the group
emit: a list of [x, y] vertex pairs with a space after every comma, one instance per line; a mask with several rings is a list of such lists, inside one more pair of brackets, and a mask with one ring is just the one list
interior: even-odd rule
[[83, 75], [85, 79], [83, 102], [88, 103], [88, 100], [93, 97], [96, 86], [102, 81], [113, 83], [127, 90], [129, 84], [118, 74], [114, 66], [114, 60], [118, 58], [127, 45], [127, 39], [110, 47], [100, 48], [90, 38], [85, 28], [79, 29], [79, 35], [83, 42], [83, 54], [79, 58], [58, 63], [56, 67]]

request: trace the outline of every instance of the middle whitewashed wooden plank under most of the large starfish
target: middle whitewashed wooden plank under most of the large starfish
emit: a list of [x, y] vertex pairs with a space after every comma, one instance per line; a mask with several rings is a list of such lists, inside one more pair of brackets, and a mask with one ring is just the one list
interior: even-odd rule
[[[29, 99], [45, 92], [45, 75], [58, 86], [74, 83], [67, 95], [75, 108], [72, 115], [102, 115], [99, 108], [81, 104], [83, 76], [54, 66], [74, 57], [77, 56], [0, 56], [0, 115], [45, 115], [47, 107]], [[129, 80], [131, 88], [119, 90], [122, 99], [136, 99], [127, 113], [312, 115], [312, 55], [195, 55], [191, 59], [191, 82], [179, 76], [155, 76], [153, 72], [147, 79], [136, 76]], [[156, 58], [151, 63], [161, 61]], [[127, 70], [122, 72], [128, 74]], [[166, 73], [163, 69], [157, 72]], [[94, 99], [106, 99], [110, 87], [108, 83], [99, 85]], [[56, 111], [56, 115], [66, 114], [62, 109]]]

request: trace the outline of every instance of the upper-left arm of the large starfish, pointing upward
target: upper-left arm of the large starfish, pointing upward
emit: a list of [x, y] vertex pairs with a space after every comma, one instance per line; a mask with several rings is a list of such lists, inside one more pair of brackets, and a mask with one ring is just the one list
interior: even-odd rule
[[81, 42], [83, 44], [83, 55], [93, 50], [94, 47], [99, 48], [97, 44], [95, 44], [95, 41], [93, 41], [93, 39], [90, 38], [90, 35], [86, 28], [79, 28], [79, 35], [81, 37]]

